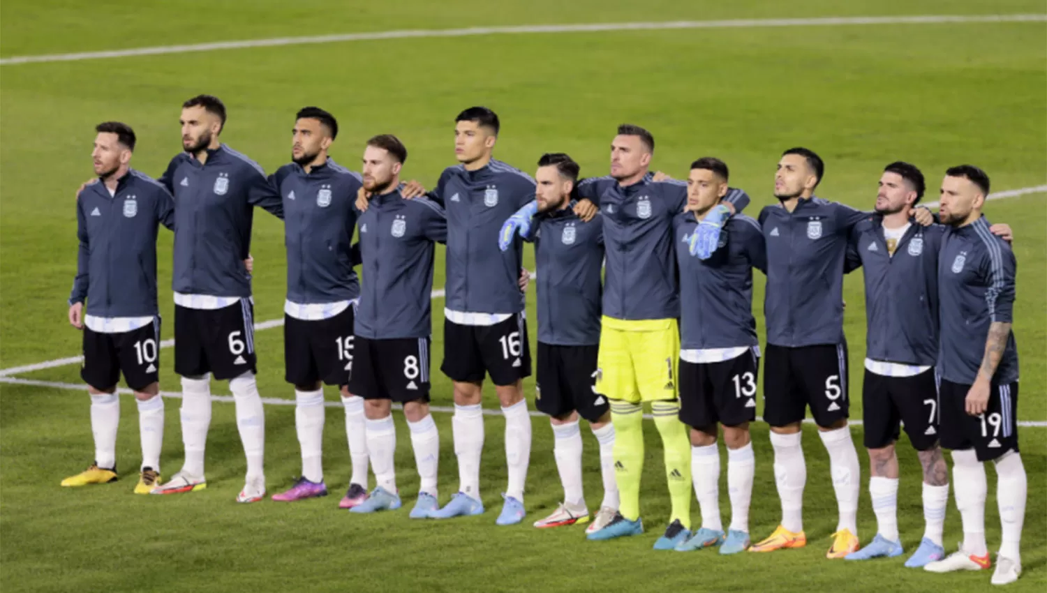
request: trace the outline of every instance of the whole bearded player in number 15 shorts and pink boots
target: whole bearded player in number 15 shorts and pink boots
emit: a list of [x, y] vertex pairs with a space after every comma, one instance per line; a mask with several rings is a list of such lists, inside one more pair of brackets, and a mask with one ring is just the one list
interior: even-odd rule
[[316, 107], [295, 115], [291, 160], [270, 177], [286, 212], [287, 300], [284, 303], [285, 380], [294, 385], [294, 412], [302, 447], [302, 478], [275, 501], [327, 496], [321, 463], [324, 384], [336, 385], [346, 409], [353, 460], [341, 508], [367, 497], [367, 451], [363, 398], [348, 388], [353, 364], [353, 318], [360, 284], [351, 244], [356, 227], [360, 175], [328, 156], [338, 121]]

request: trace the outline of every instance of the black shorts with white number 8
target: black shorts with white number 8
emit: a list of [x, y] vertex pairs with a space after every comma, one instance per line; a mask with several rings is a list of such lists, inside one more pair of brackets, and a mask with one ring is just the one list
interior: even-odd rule
[[356, 337], [349, 391], [364, 400], [429, 402], [429, 338]]

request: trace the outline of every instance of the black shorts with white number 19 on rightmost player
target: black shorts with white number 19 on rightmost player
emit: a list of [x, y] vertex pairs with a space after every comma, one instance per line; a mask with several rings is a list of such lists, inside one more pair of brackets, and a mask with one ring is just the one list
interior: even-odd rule
[[941, 447], [974, 448], [979, 461], [989, 461], [1018, 451], [1018, 382], [989, 386], [988, 407], [978, 416], [967, 415], [970, 385], [941, 380]]

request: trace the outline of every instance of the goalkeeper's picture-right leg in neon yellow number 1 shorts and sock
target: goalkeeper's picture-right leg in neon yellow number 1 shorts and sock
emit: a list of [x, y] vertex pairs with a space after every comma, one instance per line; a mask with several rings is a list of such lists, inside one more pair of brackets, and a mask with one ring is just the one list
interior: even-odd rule
[[675, 319], [659, 323], [656, 329], [634, 332], [630, 348], [640, 396], [651, 403], [654, 428], [662, 437], [671, 503], [669, 526], [654, 549], [671, 550], [691, 535], [691, 443], [687, 426], [680, 421], [680, 330]]

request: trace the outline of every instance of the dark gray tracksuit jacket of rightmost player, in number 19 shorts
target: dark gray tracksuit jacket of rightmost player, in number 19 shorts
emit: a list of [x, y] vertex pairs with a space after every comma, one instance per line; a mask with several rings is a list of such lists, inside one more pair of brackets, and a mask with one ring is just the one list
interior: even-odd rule
[[[938, 255], [941, 349], [938, 372], [945, 381], [971, 385], [985, 355], [993, 322], [1013, 322], [1017, 261], [1007, 242], [988, 230], [982, 216], [945, 233]], [[1015, 334], [993, 375], [1002, 385], [1018, 381]]]

